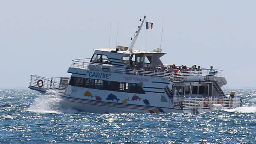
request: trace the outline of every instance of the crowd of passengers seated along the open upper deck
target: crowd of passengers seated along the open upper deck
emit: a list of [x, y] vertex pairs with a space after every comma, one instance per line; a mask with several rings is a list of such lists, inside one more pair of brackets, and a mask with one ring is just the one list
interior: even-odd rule
[[[210, 66], [210, 72], [208, 76], [214, 76], [218, 71], [212, 69], [213, 66]], [[172, 64], [170, 66], [156, 66], [155, 68], [150, 68], [149, 65], [146, 65], [145, 68], [140, 68], [137, 65], [134, 65], [134, 68], [131, 68], [129, 65], [126, 68], [126, 74], [135, 74], [135, 75], [148, 75], [152, 76], [152, 72], [156, 76], [164, 76], [168, 74], [171, 76], [202, 76], [201, 66], [187, 68], [187, 66], [176, 66]]]

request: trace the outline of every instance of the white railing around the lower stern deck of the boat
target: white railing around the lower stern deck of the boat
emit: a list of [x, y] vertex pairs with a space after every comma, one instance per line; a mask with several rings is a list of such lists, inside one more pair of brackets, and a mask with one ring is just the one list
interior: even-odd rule
[[203, 98], [186, 98], [184, 96], [174, 96], [174, 108], [192, 109], [192, 108], [209, 108], [211, 104], [222, 104], [222, 108], [235, 108], [240, 106], [238, 97], [203, 97]]

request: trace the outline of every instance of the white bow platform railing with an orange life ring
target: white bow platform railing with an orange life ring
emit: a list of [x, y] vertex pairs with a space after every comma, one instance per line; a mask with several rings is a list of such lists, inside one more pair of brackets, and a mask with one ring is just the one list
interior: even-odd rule
[[31, 75], [30, 86], [34, 86], [44, 90], [48, 90], [48, 89], [60, 90], [60, 92], [62, 92], [66, 90], [69, 80], [70, 78], [66, 78], [66, 77], [45, 78], [42, 76]]

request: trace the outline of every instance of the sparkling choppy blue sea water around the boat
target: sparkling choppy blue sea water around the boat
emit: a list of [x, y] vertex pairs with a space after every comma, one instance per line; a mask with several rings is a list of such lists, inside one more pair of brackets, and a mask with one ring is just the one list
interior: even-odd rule
[[255, 144], [256, 90], [235, 91], [244, 106], [230, 110], [93, 114], [65, 106], [54, 91], [0, 90], [0, 143]]

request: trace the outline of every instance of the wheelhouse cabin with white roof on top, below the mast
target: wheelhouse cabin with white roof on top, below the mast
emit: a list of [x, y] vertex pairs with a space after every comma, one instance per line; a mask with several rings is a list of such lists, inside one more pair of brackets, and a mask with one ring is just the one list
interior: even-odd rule
[[112, 64], [113, 66], [130, 66], [144, 68], [150, 66], [154, 68], [156, 66], [164, 66], [160, 57], [166, 53], [158, 51], [144, 51], [144, 50], [132, 50], [128, 51], [128, 46], [116, 46], [114, 48], [99, 48], [95, 49], [95, 52], [90, 60], [93, 63], [100, 64]]

